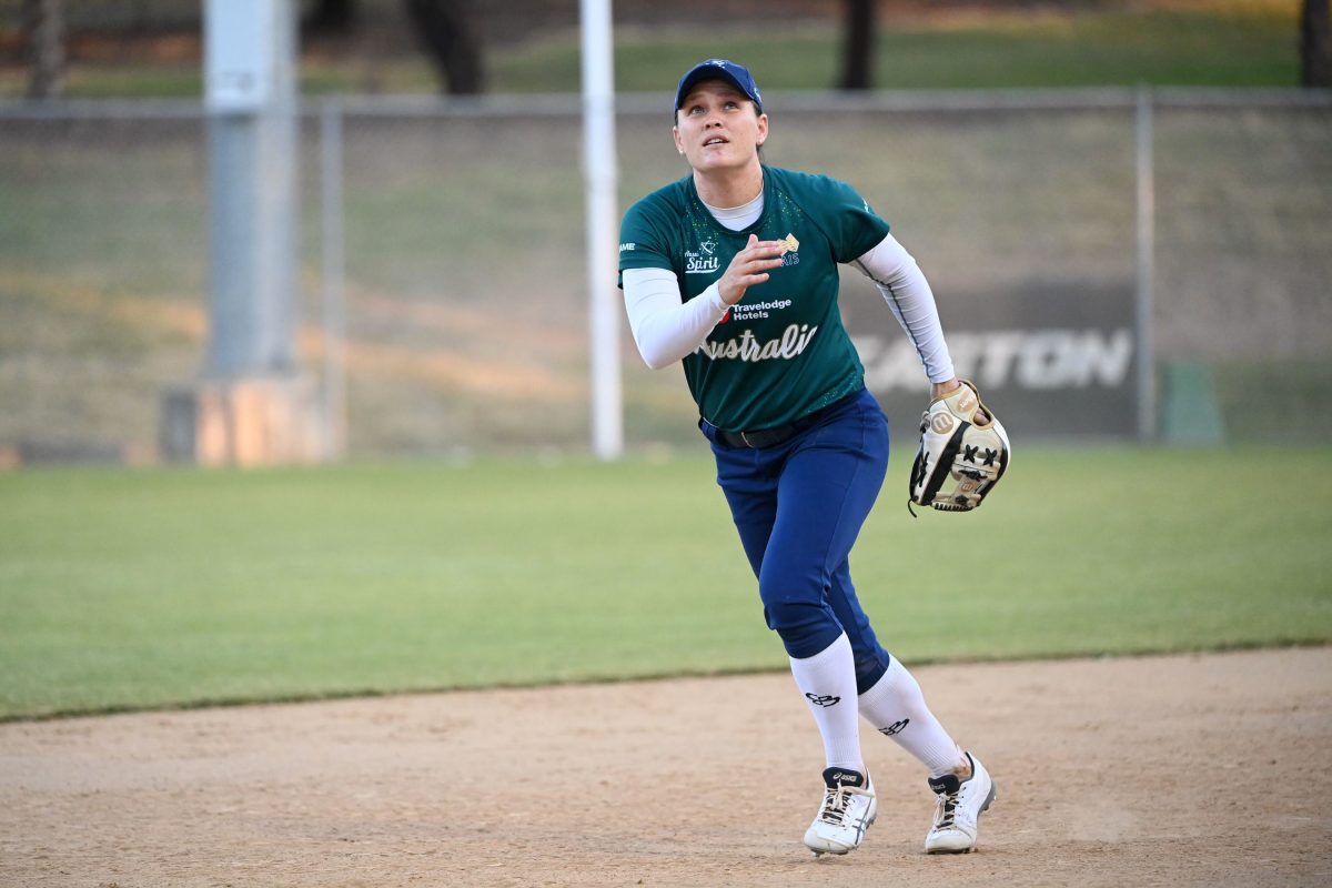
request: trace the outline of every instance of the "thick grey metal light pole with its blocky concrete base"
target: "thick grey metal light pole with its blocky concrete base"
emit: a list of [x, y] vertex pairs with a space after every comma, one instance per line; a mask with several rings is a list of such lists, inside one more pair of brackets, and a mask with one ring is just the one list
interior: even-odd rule
[[328, 454], [296, 361], [296, 5], [206, 0], [208, 355], [166, 393], [169, 459], [256, 465]]

